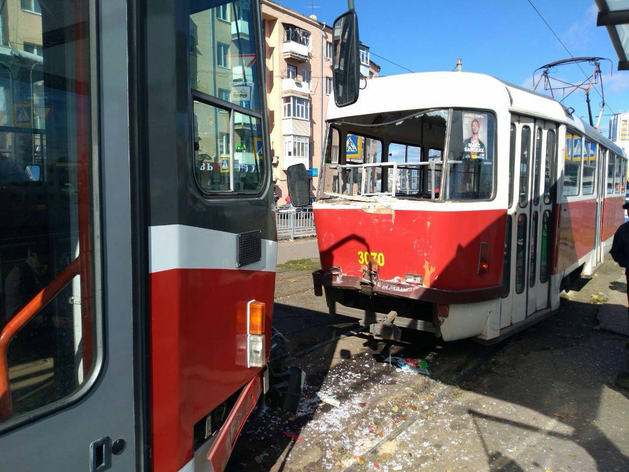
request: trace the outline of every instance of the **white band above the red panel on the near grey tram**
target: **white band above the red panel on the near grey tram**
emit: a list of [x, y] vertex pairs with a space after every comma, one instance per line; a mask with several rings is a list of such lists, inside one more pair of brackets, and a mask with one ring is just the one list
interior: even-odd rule
[[262, 240], [262, 259], [238, 267], [238, 235], [186, 225], [148, 228], [150, 273], [170, 269], [242, 269], [275, 272], [277, 242]]

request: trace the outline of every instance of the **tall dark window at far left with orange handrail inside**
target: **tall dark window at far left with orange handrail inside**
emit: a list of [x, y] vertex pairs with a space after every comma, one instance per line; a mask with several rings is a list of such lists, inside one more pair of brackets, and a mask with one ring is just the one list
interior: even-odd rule
[[[42, 55], [24, 55], [13, 42], [0, 48], [0, 331], [9, 339], [0, 359], [9, 388], [0, 386], [0, 399], [11, 411], [0, 408], [0, 428], [62, 404], [98, 358], [89, 3], [54, 5], [22, 1], [40, 16], [3, 25], [5, 38], [31, 38]], [[77, 25], [81, 34], [42, 34]], [[42, 291], [52, 299], [31, 312]]]

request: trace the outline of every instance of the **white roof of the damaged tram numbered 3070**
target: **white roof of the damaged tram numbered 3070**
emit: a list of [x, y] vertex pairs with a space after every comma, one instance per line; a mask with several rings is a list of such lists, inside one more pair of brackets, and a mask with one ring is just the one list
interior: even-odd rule
[[360, 91], [356, 103], [338, 108], [330, 101], [326, 120], [392, 111], [412, 112], [450, 107], [509, 110], [512, 113], [566, 123], [575, 130], [586, 133], [608, 149], [623, 154], [620, 147], [578, 116], [571, 115], [554, 98], [501, 81], [496, 77], [474, 72], [415, 72], [374, 77], [369, 79], [367, 87]]

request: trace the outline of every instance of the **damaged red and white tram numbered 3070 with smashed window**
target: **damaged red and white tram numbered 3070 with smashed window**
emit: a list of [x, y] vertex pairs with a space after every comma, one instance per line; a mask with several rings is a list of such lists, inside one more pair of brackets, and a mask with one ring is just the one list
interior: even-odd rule
[[623, 223], [622, 150], [494, 77], [371, 79], [326, 121], [313, 278], [330, 313], [498, 340], [557, 310]]

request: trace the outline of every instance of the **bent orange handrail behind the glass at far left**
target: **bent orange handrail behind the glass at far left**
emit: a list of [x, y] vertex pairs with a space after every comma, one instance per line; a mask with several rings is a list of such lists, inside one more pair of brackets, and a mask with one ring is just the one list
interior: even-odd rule
[[81, 256], [70, 262], [69, 266], [53, 279], [50, 284], [35, 295], [18, 314], [11, 318], [0, 333], [0, 419], [6, 418], [13, 413], [13, 403], [11, 402], [11, 386], [9, 385], [9, 366], [6, 361], [6, 351], [13, 336], [22, 329], [37, 313], [55, 298], [62, 289], [79, 275], [81, 269]]

